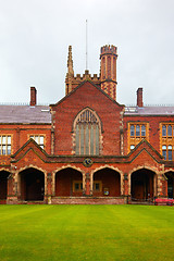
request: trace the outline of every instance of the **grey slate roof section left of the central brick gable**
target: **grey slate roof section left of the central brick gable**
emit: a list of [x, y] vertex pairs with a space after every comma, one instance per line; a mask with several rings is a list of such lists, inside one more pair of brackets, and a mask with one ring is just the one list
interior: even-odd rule
[[51, 124], [48, 105], [0, 105], [0, 123]]

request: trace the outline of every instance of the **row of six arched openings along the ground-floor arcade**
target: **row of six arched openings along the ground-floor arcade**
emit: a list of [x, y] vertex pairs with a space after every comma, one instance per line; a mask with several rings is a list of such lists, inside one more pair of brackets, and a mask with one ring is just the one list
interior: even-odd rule
[[[21, 201], [44, 201], [48, 188], [48, 179], [45, 173], [28, 167], [18, 173], [17, 198]], [[165, 173], [166, 197], [174, 198], [174, 172]], [[121, 174], [110, 167], [94, 172], [89, 177], [90, 196], [92, 197], [121, 197]], [[0, 171], [0, 202], [4, 202], [9, 196], [8, 187], [11, 173]], [[53, 181], [53, 179], [51, 179]], [[87, 176], [73, 167], [66, 167], [54, 174], [51, 183], [52, 197], [83, 197], [87, 190]], [[157, 196], [158, 175], [150, 170], [140, 169], [134, 171], [129, 177], [129, 195], [132, 200], [146, 201]]]

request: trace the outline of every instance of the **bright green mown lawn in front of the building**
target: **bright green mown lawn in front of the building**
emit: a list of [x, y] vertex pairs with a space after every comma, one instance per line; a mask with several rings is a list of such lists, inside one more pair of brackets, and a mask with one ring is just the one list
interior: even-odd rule
[[0, 261], [174, 260], [174, 208], [0, 206]]

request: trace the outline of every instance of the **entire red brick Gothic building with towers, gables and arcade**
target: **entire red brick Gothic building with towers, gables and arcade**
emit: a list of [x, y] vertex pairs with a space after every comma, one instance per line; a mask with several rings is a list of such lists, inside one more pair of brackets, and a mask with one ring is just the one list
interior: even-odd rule
[[1, 203], [127, 203], [174, 195], [174, 107], [116, 101], [114, 46], [101, 48], [100, 75], [74, 75], [65, 97], [0, 105]]

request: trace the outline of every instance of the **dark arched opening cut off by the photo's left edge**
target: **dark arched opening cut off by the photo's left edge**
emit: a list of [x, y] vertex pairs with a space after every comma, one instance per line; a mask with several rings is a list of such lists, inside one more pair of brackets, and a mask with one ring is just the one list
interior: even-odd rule
[[0, 201], [5, 201], [8, 197], [8, 177], [10, 173], [0, 171]]

